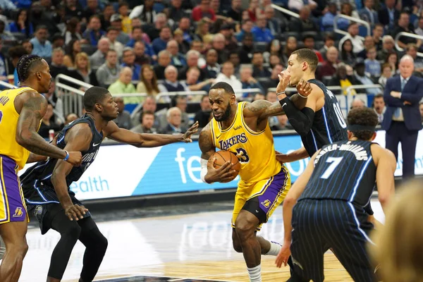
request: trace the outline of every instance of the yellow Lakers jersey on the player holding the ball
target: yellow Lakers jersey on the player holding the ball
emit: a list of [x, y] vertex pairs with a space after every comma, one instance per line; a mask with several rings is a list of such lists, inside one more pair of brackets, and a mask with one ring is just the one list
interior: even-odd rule
[[239, 159], [240, 178], [247, 183], [254, 183], [279, 173], [281, 163], [276, 161], [269, 123], [260, 132], [248, 128], [243, 115], [245, 104], [238, 103], [235, 119], [229, 128], [222, 130], [221, 124], [213, 118], [211, 130], [216, 148], [242, 155]]

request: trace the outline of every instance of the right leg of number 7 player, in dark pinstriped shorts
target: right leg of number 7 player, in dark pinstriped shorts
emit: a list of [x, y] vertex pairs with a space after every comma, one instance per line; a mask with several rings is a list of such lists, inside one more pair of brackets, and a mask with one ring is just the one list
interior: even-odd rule
[[334, 224], [326, 235], [331, 240], [333, 253], [354, 281], [376, 281], [366, 247], [370, 240], [368, 234], [372, 230], [372, 223], [367, 222], [367, 214], [357, 215], [353, 204], [335, 201], [332, 201], [331, 209], [333, 212], [328, 216]]

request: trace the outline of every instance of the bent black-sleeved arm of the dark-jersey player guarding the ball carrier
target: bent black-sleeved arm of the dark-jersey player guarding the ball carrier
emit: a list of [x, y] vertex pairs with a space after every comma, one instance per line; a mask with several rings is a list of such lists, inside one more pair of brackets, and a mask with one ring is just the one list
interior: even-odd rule
[[[312, 92], [307, 98], [304, 109], [298, 109], [288, 98], [279, 101], [290, 125], [301, 136], [307, 135], [312, 128], [314, 113], [324, 105], [324, 93], [317, 85], [312, 84]], [[320, 108], [319, 108], [320, 107]]]

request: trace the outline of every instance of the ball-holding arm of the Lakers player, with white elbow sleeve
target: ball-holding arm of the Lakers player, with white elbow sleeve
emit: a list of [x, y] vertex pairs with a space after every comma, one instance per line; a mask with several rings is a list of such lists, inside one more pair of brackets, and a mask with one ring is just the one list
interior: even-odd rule
[[198, 145], [201, 150], [201, 180], [204, 183], [209, 184], [232, 180], [233, 171], [231, 170], [232, 164], [230, 161], [226, 161], [226, 163], [219, 168], [214, 168], [214, 161], [216, 161], [216, 159], [209, 161], [212, 154], [216, 152], [216, 147], [214, 147], [213, 144], [210, 123], [201, 130], [200, 137], [198, 138]]

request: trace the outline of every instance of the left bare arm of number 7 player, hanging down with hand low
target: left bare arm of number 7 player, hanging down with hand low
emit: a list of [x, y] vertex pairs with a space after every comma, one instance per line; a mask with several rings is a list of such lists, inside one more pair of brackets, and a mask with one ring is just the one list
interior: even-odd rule
[[288, 257], [290, 256], [291, 232], [293, 230], [293, 226], [291, 225], [291, 220], [293, 219], [293, 207], [312, 176], [314, 171], [314, 159], [316, 159], [319, 152], [320, 150], [312, 156], [312, 159], [310, 159], [307, 164], [305, 171], [297, 178], [297, 180], [295, 180], [294, 185], [288, 191], [285, 200], [283, 200], [282, 211], [284, 236], [282, 248], [279, 251], [278, 257], [276, 257], [276, 266], [278, 267], [281, 267], [282, 264], [286, 266], [288, 262]]

